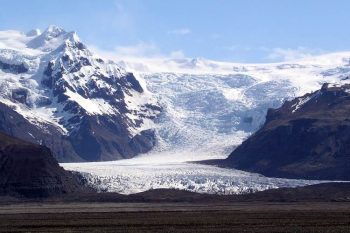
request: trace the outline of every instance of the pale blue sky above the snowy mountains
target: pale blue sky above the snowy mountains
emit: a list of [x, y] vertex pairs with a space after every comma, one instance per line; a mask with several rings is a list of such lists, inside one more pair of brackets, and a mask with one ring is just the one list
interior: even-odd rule
[[0, 0], [0, 30], [55, 24], [120, 56], [271, 62], [350, 50], [348, 0]]

